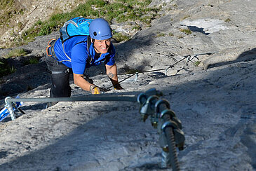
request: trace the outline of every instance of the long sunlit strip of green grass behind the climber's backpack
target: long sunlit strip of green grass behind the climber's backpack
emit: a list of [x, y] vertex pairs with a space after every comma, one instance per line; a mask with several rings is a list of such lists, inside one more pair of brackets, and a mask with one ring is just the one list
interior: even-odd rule
[[33, 27], [23, 32], [15, 39], [15, 46], [20, 46], [29, 41], [34, 41], [36, 36], [43, 36], [55, 32], [67, 20], [83, 16], [85, 18], [105, 18], [111, 22], [140, 21], [150, 26], [151, 20], [156, 18], [158, 8], [148, 8], [150, 0], [115, 0], [111, 3], [103, 0], [88, 0], [86, 4], [80, 4], [70, 13], [58, 13], [52, 15], [49, 20], [39, 20]]

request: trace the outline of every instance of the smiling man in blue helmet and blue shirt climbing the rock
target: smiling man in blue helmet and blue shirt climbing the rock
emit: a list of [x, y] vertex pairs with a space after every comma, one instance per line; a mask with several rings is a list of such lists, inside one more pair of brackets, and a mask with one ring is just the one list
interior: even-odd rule
[[89, 36], [70, 36], [66, 41], [60, 37], [48, 43], [46, 63], [52, 81], [50, 97], [71, 96], [69, 71], [73, 72], [77, 86], [92, 94], [100, 94], [100, 88], [86, 81], [83, 74], [86, 68], [102, 63], [105, 63], [107, 76], [114, 88], [123, 89], [117, 78], [115, 49], [109, 23], [102, 18], [91, 20], [88, 32]]

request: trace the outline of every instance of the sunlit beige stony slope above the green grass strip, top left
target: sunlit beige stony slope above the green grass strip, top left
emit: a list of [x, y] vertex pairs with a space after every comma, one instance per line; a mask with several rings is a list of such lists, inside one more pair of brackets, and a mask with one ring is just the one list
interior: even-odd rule
[[[29, 27], [32, 27], [38, 20], [46, 20], [50, 15], [60, 12], [70, 12], [77, 4], [83, 4], [84, 0], [76, 1], [49, 1], [49, 0], [22, 0], [14, 1], [18, 11], [22, 13], [13, 14], [11, 22], [0, 29], [0, 47], [5, 47], [6, 43], [13, 41], [15, 36], [22, 34]], [[10, 2], [11, 3], [11, 2]], [[3, 11], [4, 12], [4, 11]], [[15, 36], [13, 36], [15, 35]]]

